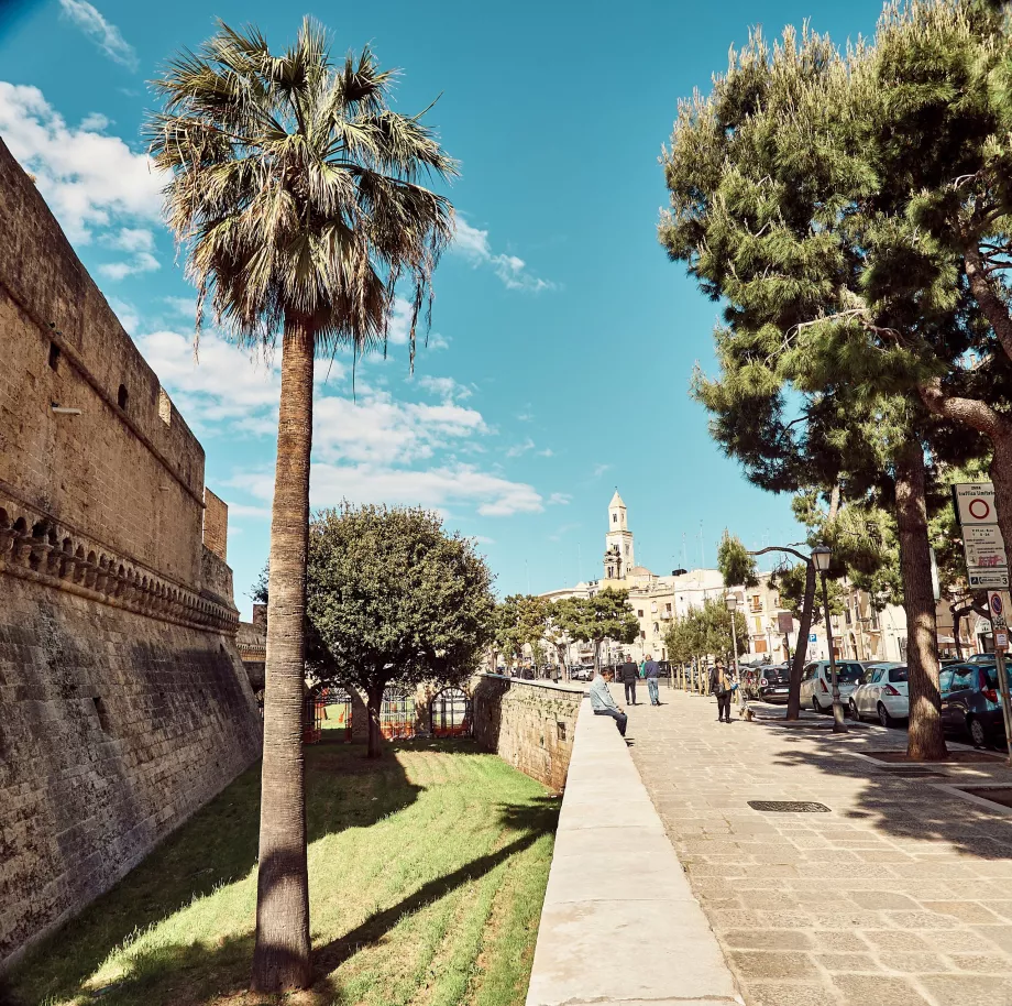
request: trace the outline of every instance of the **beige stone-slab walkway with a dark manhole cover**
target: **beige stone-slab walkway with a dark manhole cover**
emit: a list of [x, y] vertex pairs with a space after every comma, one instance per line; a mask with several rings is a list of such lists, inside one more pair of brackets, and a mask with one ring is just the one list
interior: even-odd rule
[[749, 1006], [1012, 1004], [1012, 811], [939, 788], [1012, 786], [1002, 762], [901, 778], [861, 757], [905, 748], [901, 731], [661, 701], [629, 710], [634, 762]]

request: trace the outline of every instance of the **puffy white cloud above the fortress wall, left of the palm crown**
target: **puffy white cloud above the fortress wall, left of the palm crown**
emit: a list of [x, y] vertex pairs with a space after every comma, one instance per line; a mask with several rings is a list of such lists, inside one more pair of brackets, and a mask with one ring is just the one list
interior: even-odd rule
[[0, 80], [0, 135], [79, 244], [96, 229], [155, 221], [162, 207], [151, 158], [95, 127], [94, 114], [67, 125], [38, 88]]

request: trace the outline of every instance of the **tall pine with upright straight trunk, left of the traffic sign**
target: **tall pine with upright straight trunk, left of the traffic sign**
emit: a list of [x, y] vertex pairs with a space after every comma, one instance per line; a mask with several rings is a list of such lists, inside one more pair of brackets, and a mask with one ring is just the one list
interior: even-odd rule
[[937, 289], [870, 308], [868, 260], [881, 238], [871, 197], [880, 186], [856, 123], [861, 102], [878, 99], [858, 94], [854, 79], [827, 39], [789, 30], [770, 48], [754, 35], [713, 94], [680, 109], [666, 155], [672, 208], [661, 240], [727, 303], [717, 333], [722, 376], [695, 383], [725, 449], [747, 464], [772, 460], [768, 475], [749, 474], [774, 491], [825, 493], [846, 481], [848, 499], [894, 510], [910, 751], [933, 758], [945, 742], [926, 458], [968, 444], [928, 413], [916, 387], [957, 367], [976, 315], [965, 297]]

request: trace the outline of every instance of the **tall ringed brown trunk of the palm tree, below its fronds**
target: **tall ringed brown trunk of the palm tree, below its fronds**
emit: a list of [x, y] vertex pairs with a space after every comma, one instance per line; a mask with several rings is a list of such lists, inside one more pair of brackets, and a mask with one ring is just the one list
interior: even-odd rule
[[282, 394], [271, 518], [264, 757], [256, 883], [254, 992], [311, 982], [302, 763], [306, 559], [315, 339], [293, 319], [282, 342]]

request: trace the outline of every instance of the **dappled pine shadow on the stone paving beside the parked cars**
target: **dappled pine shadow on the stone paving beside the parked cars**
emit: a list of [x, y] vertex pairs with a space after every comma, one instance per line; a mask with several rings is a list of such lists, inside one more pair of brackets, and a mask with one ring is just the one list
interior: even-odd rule
[[[856, 808], [840, 810], [831, 806], [831, 810], [845, 820], [870, 819], [887, 835], [924, 842], [925, 852], [928, 851], [928, 843], [943, 841], [952, 843], [964, 854], [981, 860], [1012, 857], [1012, 816], [1003, 812], [1000, 807], [989, 809], [937, 788], [938, 785], [959, 788], [988, 785], [1012, 787], [1012, 772], [1000, 758], [980, 764], [877, 763], [850, 755], [905, 751], [905, 733], [869, 728], [851, 729], [847, 734], [833, 734], [828, 730], [785, 729], [760, 721], [754, 721], [750, 729], [777, 731], [783, 737], [776, 764], [815, 767], [831, 776], [864, 783], [856, 798]], [[947, 737], [950, 750], [956, 750], [953, 742], [958, 743], [958, 740]], [[814, 742], [817, 746], [813, 750], [813, 745], [805, 742]], [[908, 774], [911, 772], [914, 774]], [[810, 798], [820, 799], [817, 795], [805, 797]], [[833, 803], [832, 796], [822, 799]], [[916, 854], [916, 846], [910, 851]]]

